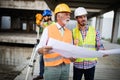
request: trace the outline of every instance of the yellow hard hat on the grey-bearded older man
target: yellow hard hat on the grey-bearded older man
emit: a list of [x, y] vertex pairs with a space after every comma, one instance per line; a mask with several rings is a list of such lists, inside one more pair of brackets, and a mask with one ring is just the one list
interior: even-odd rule
[[57, 5], [54, 10], [55, 14], [58, 12], [70, 12], [71, 13], [71, 10], [67, 4], [62, 3], [62, 4]]

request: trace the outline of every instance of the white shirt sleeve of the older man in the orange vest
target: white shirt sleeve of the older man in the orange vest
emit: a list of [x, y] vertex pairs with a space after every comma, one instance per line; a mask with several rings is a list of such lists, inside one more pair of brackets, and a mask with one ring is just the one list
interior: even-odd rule
[[46, 27], [43, 30], [43, 33], [40, 37], [40, 42], [38, 43], [38, 45], [36, 46], [36, 51], [38, 51], [39, 48], [46, 46], [46, 43], [48, 41], [48, 28]]

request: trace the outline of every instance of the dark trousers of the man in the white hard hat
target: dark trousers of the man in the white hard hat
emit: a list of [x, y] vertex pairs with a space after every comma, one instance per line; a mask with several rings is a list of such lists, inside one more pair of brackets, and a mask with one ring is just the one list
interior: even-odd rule
[[73, 67], [73, 80], [82, 80], [84, 74], [85, 80], [94, 80], [95, 66], [90, 69], [78, 69]]

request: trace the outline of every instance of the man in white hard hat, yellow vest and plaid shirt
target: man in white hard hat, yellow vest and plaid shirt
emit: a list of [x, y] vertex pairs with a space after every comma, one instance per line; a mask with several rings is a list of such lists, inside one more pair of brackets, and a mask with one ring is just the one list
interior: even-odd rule
[[[100, 32], [95, 30], [93, 26], [87, 25], [87, 14], [86, 9], [83, 7], [78, 7], [74, 12], [74, 16], [77, 21], [77, 25], [73, 29], [74, 45], [85, 47], [90, 50], [104, 50]], [[97, 60], [97, 58], [75, 59], [73, 66], [73, 80], [82, 80], [83, 74], [85, 80], [94, 80]]]

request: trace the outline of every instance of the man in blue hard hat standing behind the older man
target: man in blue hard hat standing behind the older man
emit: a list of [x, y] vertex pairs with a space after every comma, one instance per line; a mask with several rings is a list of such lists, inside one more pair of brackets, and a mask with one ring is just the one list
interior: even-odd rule
[[[47, 26], [54, 24], [55, 22], [52, 21], [51, 16], [52, 16], [52, 12], [51, 10], [44, 10], [42, 13], [43, 19], [42, 22], [40, 24], [40, 26], [44, 29]], [[35, 77], [33, 80], [39, 80], [39, 79], [43, 79], [43, 74], [44, 74], [44, 60], [43, 60], [43, 55], [40, 55], [40, 72], [39, 75], [37, 77]]]

